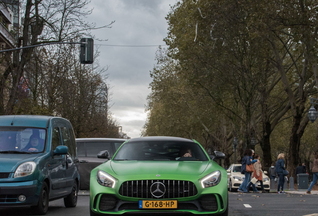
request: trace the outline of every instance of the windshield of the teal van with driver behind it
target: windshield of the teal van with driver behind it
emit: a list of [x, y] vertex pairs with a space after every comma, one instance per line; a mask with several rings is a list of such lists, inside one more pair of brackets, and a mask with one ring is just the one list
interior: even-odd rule
[[44, 128], [0, 127], [0, 153], [42, 152], [45, 136]]

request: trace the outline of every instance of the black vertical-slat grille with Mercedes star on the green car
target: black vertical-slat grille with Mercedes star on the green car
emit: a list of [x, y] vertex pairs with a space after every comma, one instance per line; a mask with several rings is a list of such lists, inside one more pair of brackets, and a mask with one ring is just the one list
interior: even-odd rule
[[[163, 193], [151, 194], [150, 188], [154, 190], [157, 184], [151, 185], [155, 182], [161, 182], [164, 187], [160, 188]], [[163, 186], [160, 184], [160, 186]], [[165, 190], [165, 191], [163, 191]], [[132, 180], [125, 181], [119, 188], [119, 194], [127, 197], [136, 198], [180, 198], [189, 197], [197, 194], [197, 189], [191, 181], [184, 180]]]

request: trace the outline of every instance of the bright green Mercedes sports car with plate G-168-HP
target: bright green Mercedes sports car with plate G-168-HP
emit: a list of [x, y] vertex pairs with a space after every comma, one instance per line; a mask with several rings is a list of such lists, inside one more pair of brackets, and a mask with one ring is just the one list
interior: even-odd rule
[[[107, 151], [98, 157], [108, 157]], [[90, 215], [228, 215], [227, 173], [195, 140], [131, 138], [90, 173]]]

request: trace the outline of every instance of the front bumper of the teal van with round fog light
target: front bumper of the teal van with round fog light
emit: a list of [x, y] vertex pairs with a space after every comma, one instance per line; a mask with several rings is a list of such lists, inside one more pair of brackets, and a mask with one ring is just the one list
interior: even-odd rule
[[[0, 183], [0, 207], [36, 205], [39, 198], [40, 183], [37, 180]], [[25, 201], [19, 201], [19, 195], [25, 195]]]

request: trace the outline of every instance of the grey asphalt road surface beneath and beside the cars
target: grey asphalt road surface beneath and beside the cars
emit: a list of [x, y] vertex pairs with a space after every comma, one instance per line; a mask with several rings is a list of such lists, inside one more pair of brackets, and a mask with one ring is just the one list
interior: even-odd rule
[[[63, 199], [54, 200], [50, 202], [46, 216], [88, 216], [88, 192], [79, 191], [78, 194], [75, 208], [65, 208]], [[318, 216], [318, 191], [314, 194], [306, 194], [305, 191], [293, 191], [286, 194], [229, 192], [228, 195], [230, 216]], [[33, 216], [34, 214], [30, 208], [0, 208], [0, 215]]]

